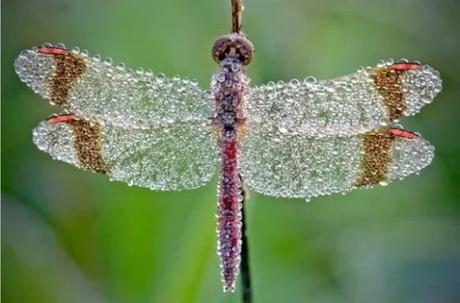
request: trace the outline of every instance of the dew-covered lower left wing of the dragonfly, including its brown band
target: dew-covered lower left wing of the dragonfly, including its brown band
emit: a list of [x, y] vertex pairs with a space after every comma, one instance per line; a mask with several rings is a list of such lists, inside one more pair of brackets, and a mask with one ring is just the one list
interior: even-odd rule
[[41, 122], [34, 143], [53, 158], [153, 190], [208, 182], [218, 150], [209, 121], [129, 129], [63, 115]]

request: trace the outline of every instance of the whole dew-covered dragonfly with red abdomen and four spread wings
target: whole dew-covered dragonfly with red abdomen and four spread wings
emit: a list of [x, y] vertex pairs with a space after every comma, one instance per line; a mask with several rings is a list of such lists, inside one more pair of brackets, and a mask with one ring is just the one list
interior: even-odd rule
[[434, 148], [392, 123], [441, 91], [430, 66], [392, 60], [333, 80], [250, 87], [254, 47], [240, 29], [234, 13], [232, 33], [214, 42], [212, 93], [195, 80], [113, 65], [63, 44], [24, 50], [15, 61], [19, 78], [63, 109], [33, 131], [53, 158], [164, 191], [200, 187], [220, 164], [225, 291], [234, 290], [240, 262], [242, 180], [265, 195], [309, 200], [416, 173]]

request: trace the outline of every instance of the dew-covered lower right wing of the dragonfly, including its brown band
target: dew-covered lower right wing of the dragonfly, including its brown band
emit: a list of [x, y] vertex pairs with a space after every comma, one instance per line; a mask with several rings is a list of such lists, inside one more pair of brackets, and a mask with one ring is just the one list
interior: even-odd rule
[[414, 133], [380, 128], [350, 136], [273, 136], [249, 129], [241, 143], [247, 186], [270, 196], [306, 198], [387, 184], [430, 164], [434, 148]]

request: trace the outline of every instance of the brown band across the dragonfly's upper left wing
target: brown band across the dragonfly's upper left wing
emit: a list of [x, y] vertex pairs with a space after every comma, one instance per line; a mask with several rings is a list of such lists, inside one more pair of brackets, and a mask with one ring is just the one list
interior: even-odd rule
[[67, 96], [75, 80], [86, 72], [86, 62], [83, 57], [71, 52], [54, 55], [53, 58], [56, 71], [51, 79], [50, 99], [53, 104], [66, 106], [68, 105]]

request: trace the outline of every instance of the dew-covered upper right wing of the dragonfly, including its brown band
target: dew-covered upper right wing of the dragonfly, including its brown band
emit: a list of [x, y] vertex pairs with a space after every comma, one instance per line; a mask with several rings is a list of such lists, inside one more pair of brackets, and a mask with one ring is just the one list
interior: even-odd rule
[[427, 65], [382, 63], [334, 80], [267, 83], [249, 90], [248, 128], [306, 136], [363, 133], [414, 115], [441, 91]]

